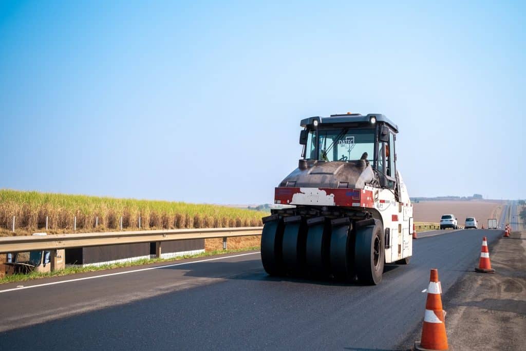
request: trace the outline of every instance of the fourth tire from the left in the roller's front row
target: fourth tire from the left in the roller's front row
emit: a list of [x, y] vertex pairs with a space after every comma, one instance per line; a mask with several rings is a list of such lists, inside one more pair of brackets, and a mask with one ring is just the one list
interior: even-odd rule
[[353, 247], [349, 228], [349, 224], [332, 227], [330, 235], [330, 272], [335, 278], [342, 280], [352, 280], [354, 275], [353, 260], [349, 252], [349, 248]]

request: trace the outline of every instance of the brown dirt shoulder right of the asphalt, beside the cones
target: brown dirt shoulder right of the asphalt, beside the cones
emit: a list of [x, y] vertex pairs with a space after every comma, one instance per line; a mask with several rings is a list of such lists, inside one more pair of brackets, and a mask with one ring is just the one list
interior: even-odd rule
[[526, 349], [526, 232], [490, 247], [495, 274], [468, 273], [444, 296], [456, 350]]

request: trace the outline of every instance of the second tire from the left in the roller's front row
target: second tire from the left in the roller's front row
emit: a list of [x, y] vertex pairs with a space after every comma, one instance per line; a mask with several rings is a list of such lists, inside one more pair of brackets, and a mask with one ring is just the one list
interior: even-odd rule
[[301, 274], [305, 271], [305, 221], [285, 223], [282, 244], [282, 259], [287, 273]]

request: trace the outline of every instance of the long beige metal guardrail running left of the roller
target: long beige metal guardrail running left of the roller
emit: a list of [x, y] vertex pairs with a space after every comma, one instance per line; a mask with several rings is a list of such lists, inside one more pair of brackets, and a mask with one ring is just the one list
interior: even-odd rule
[[[157, 243], [185, 239], [228, 238], [261, 235], [263, 227], [133, 230], [129, 232], [9, 236], [0, 238], [0, 254], [32, 250], [59, 250], [87, 246]], [[225, 241], [225, 239], [224, 239]]]

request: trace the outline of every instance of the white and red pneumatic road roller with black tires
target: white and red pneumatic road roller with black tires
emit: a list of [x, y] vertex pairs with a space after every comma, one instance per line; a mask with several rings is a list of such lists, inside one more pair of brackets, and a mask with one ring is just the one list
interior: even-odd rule
[[412, 255], [413, 207], [397, 168], [398, 127], [382, 114], [302, 119], [298, 167], [262, 218], [267, 274], [376, 285]]

